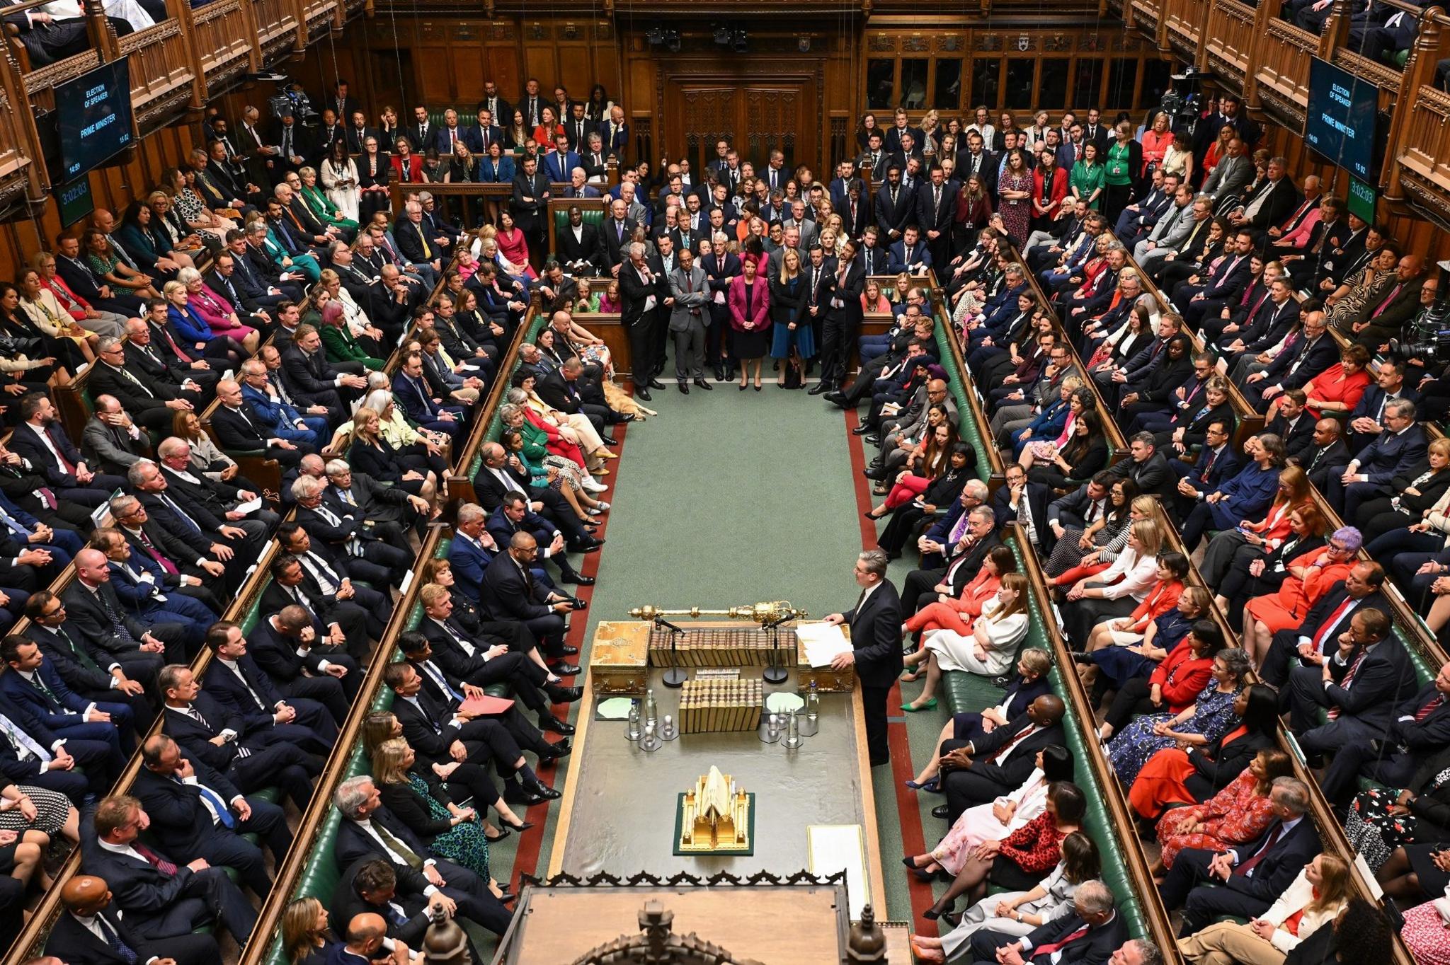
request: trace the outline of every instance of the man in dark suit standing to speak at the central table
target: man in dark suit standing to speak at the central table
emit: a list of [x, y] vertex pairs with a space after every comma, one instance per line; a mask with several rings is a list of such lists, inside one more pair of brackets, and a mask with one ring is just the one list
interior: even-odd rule
[[870, 549], [856, 559], [856, 585], [861, 596], [845, 613], [832, 613], [826, 623], [844, 623], [851, 630], [851, 649], [837, 653], [834, 669], [856, 665], [866, 704], [866, 748], [871, 766], [890, 764], [886, 743], [886, 697], [902, 675], [902, 601], [895, 584], [886, 578], [890, 561], [880, 549]]

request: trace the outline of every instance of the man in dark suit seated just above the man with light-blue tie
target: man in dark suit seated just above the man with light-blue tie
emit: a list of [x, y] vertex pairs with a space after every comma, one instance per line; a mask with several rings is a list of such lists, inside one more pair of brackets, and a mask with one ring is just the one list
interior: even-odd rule
[[319, 755], [306, 753], [276, 727], [248, 727], [242, 714], [202, 690], [188, 667], [164, 667], [158, 687], [165, 700], [161, 732], [193, 759], [226, 775], [242, 794], [276, 787], [299, 811], [306, 810], [313, 781], [322, 774]]

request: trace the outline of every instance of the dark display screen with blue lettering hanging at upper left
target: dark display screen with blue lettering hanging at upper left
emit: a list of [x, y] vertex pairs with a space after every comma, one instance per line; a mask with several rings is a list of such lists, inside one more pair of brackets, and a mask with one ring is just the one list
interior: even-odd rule
[[61, 177], [75, 181], [135, 143], [130, 123], [130, 68], [122, 58], [55, 88]]

